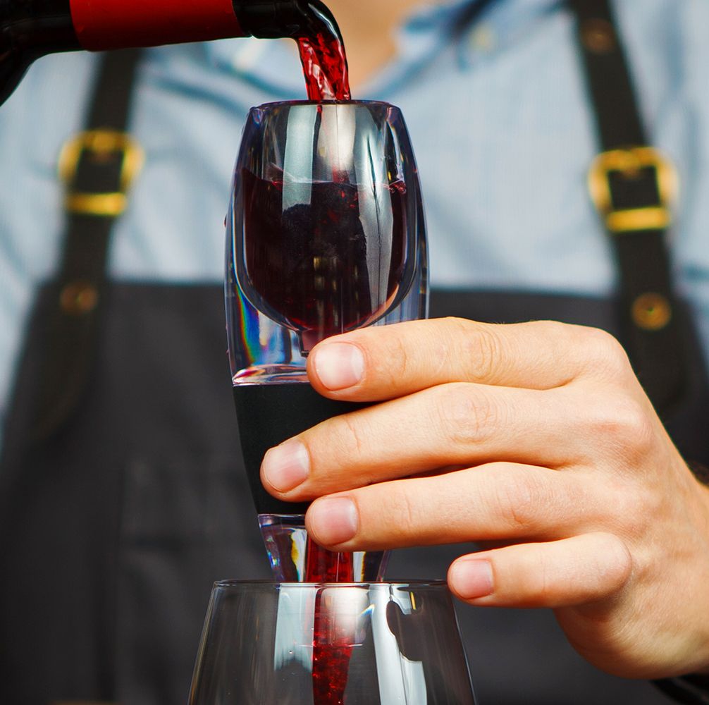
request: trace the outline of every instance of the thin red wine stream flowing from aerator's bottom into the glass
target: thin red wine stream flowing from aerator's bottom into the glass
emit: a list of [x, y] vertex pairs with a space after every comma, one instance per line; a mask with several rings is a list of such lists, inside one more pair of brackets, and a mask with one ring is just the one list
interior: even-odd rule
[[[306, 582], [352, 582], [352, 553], [333, 553], [308, 538]], [[327, 604], [327, 589], [318, 590], [313, 622], [313, 703], [342, 705], [354, 644], [353, 625], [338, 618]]]

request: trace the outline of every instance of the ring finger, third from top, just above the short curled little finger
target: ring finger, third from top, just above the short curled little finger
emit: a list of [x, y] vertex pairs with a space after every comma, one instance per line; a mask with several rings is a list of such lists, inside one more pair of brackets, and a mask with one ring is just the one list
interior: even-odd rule
[[306, 527], [325, 548], [347, 551], [553, 540], [604, 516], [607, 503], [594, 487], [576, 474], [492, 463], [320, 497], [308, 509]]

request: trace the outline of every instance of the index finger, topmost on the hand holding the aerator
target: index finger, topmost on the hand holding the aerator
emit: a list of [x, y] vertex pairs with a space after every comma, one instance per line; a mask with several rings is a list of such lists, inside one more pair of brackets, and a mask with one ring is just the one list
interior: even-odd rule
[[551, 389], [609, 368], [630, 369], [610, 335], [552, 321], [503, 326], [439, 318], [374, 326], [329, 338], [308, 358], [318, 392], [361, 401], [447, 382]]

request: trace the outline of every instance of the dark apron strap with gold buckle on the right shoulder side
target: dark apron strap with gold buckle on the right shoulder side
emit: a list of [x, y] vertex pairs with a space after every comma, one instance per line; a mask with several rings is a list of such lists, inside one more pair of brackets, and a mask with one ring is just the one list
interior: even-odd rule
[[648, 144], [608, 0], [569, 0], [596, 118], [601, 154], [588, 186], [620, 274], [620, 331], [637, 377], [658, 411], [686, 387], [682, 321], [666, 234], [676, 179]]

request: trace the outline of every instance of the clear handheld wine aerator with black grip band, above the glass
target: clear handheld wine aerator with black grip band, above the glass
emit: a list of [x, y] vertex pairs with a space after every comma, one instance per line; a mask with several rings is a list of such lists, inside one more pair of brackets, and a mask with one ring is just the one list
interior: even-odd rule
[[307, 384], [320, 340], [423, 318], [423, 205], [401, 111], [376, 101], [292, 101], [250, 111], [227, 225], [228, 348], [245, 466], [277, 580], [372, 580], [379, 554], [308, 541], [306, 505], [269, 496], [264, 453], [362, 404]]

